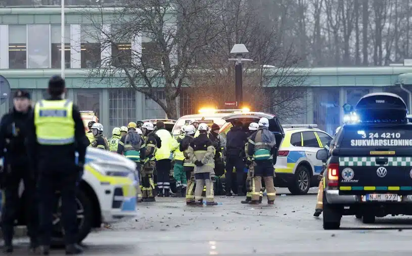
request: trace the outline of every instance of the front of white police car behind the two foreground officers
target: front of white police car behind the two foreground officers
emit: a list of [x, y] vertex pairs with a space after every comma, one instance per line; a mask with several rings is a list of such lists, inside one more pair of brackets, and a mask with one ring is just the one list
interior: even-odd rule
[[[136, 216], [135, 186], [139, 184], [134, 178], [135, 168], [136, 164], [133, 161], [119, 154], [87, 148], [84, 175], [76, 196], [78, 242], [81, 242], [92, 228], [100, 228], [103, 223], [118, 222]], [[23, 186], [20, 192], [24, 198]], [[0, 215], [3, 199], [0, 191]], [[60, 206], [58, 200], [53, 215], [54, 245], [64, 244]], [[18, 225], [25, 225], [25, 209], [20, 209]]]

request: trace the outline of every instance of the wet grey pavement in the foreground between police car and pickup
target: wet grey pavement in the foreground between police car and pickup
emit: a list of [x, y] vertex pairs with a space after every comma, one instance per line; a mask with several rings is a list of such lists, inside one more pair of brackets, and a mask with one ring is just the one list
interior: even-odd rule
[[[140, 216], [91, 233], [84, 255], [405, 255], [412, 245], [412, 218], [378, 218], [365, 225], [342, 218], [341, 230], [326, 231], [313, 217], [316, 188], [292, 196], [278, 189], [274, 205], [241, 204], [217, 196], [217, 206], [189, 207], [184, 198], [141, 203]], [[282, 196], [283, 194], [283, 196]], [[13, 255], [27, 255], [25, 240]], [[53, 251], [52, 255], [63, 255]]]

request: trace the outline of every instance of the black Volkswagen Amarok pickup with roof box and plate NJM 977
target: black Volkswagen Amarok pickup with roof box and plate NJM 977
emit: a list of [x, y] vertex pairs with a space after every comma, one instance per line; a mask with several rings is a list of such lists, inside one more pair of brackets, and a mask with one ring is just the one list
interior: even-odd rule
[[376, 217], [412, 215], [412, 123], [406, 104], [395, 94], [368, 94], [355, 113], [358, 122], [342, 126], [331, 155], [327, 149], [316, 154], [328, 160], [324, 229], [338, 229], [344, 215], [369, 224]]

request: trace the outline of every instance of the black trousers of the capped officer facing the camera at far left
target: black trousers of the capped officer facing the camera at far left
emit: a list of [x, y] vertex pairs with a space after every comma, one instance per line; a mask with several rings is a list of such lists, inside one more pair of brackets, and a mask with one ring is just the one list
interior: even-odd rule
[[6, 245], [11, 245], [14, 233], [14, 223], [18, 218], [20, 209], [19, 187], [24, 184], [24, 213], [26, 217], [28, 236], [31, 240], [37, 240], [38, 233], [38, 207], [36, 197], [36, 181], [30, 175], [26, 166], [12, 166], [9, 174], [5, 176], [5, 203], [2, 212], [2, 231]]

